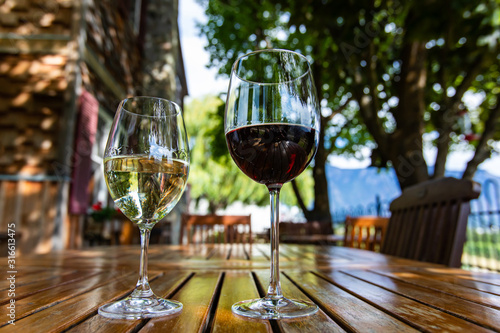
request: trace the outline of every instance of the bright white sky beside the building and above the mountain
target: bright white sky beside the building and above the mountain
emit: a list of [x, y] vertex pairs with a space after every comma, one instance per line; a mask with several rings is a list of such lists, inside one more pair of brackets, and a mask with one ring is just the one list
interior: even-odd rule
[[[199, 36], [199, 29], [196, 28], [196, 22], [206, 21], [204, 9], [195, 0], [179, 0], [179, 33], [189, 93], [186, 103], [194, 98], [226, 92], [229, 84], [227, 78], [217, 77], [216, 69], [206, 67], [209, 62], [209, 54], [204, 50], [206, 39]], [[425, 155], [427, 161], [433, 161], [436, 151], [428, 150]], [[471, 158], [472, 152], [450, 153], [446, 168], [463, 171]], [[329, 161], [336, 167], [346, 169], [366, 168], [370, 165], [369, 158], [360, 161], [354, 158], [332, 157]], [[500, 177], [500, 156], [483, 162], [479, 168]]]

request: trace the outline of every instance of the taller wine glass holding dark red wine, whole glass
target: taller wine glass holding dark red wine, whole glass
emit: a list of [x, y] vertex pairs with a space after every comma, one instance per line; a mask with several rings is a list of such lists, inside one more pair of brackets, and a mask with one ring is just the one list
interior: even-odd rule
[[267, 186], [271, 203], [271, 277], [267, 294], [232, 306], [259, 319], [306, 316], [309, 302], [283, 296], [279, 272], [279, 194], [304, 171], [319, 141], [320, 108], [307, 58], [288, 50], [261, 50], [238, 58], [231, 70], [225, 134], [236, 165]]

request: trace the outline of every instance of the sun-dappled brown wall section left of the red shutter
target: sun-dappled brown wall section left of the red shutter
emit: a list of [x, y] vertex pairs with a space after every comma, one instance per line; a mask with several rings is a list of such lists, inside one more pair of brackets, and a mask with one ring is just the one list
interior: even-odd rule
[[0, 174], [45, 174], [68, 88], [71, 1], [0, 4]]

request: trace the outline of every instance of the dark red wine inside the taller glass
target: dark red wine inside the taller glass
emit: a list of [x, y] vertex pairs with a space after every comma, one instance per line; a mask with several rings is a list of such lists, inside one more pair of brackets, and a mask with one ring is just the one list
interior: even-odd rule
[[259, 124], [226, 133], [229, 153], [251, 179], [265, 185], [286, 183], [304, 171], [316, 153], [318, 136], [310, 127]]

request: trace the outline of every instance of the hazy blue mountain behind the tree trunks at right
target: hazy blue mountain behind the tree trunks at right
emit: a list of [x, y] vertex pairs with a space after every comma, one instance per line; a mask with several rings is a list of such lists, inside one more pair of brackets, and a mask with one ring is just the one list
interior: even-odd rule
[[[432, 172], [432, 169], [430, 170]], [[462, 172], [447, 171], [446, 176], [460, 178]], [[376, 197], [382, 207], [388, 209], [389, 203], [401, 194], [401, 189], [393, 169], [340, 169], [332, 165], [326, 167], [330, 207], [335, 216], [345, 216], [348, 212], [358, 214], [375, 213]], [[492, 200], [493, 192], [500, 188], [500, 177], [487, 171], [478, 170], [474, 180], [483, 186], [481, 199]], [[490, 184], [496, 183], [496, 189]], [[482, 198], [483, 197], [483, 198]], [[495, 199], [494, 199], [495, 200]], [[496, 198], [498, 201], [498, 198]], [[367, 210], [370, 209], [370, 210]], [[342, 219], [343, 217], [340, 217]]]

